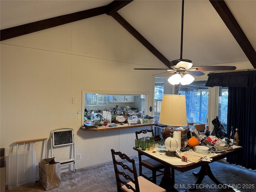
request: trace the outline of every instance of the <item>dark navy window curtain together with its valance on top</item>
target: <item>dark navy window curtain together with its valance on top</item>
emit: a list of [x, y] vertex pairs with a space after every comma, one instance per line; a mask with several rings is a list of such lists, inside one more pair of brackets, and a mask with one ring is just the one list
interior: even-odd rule
[[256, 169], [256, 71], [208, 74], [206, 86], [228, 87], [228, 134], [238, 128], [243, 150], [227, 162]]

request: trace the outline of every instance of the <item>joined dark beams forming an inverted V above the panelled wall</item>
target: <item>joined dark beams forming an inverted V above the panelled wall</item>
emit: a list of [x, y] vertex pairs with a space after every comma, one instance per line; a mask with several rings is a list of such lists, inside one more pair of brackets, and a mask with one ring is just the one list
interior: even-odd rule
[[98, 16], [101, 14], [108, 14], [118, 21], [128, 32], [130, 32], [139, 42], [141, 42], [152, 54], [154, 54], [160, 61], [162, 61], [168, 68], [171, 63], [168, 61], [148, 40], [146, 40], [136, 29], [134, 29], [124, 18], [122, 18], [117, 11], [132, 2], [133, 0], [114, 0], [110, 4], [98, 8], [84, 10], [72, 14], [66, 14], [54, 18], [49, 18], [37, 22], [32, 22], [12, 28], [3, 29], [0, 31], [0, 40], [6, 40], [40, 30], [60, 26], [70, 22]]

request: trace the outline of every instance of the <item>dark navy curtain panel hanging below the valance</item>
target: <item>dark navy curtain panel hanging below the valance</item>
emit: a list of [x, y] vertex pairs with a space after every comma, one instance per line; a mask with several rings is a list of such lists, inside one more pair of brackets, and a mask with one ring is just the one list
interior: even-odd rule
[[228, 133], [238, 128], [240, 153], [227, 157], [227, 162], [256, 169], [256, 88], [228, 88]]

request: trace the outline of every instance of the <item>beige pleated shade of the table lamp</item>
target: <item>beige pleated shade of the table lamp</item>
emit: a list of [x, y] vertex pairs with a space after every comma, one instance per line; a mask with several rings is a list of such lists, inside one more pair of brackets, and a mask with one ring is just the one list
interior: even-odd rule
[[164, 94], [159, 122], [168, 126], [187, 126], [186, 97]]

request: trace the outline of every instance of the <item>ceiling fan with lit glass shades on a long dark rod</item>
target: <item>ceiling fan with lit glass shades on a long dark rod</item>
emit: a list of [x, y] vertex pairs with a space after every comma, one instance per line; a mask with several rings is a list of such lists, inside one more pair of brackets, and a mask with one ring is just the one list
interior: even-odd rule
[[[184, 78], [186, 76], [186, 74], [190, 74], [190, 75], [193, 75], [193, 76], [204, 75], [204, 73], [202, 71], [224, 71], [224, 70], [235, 70], [236, 69], [236, 66], [198, 66], [198, 67], [192, 67], [192, 61], [191, 60], [183, 59], [182, 58], [183, 20], [184, 20], [184, 0], [182, 0], [180, 59], [171, 61], [171, 66], [170, 66], [169, 69], [166, 69], [166, 68], [134, 68], [135, 70], [166, 70], [169, 73], [179, 74], [179, 76], [180, 76], [179, 79], [181, 79], [181, 78]], [[167, 72], [164, 72], [164, 73], [167, 73]], [[163, 74], [163, 73], [160, 73], [160, 74]], [[176, 78], [177, 77], [178, 76], [176, 76]], [[173, 79], [174, 79], [174, 77], [173, 77]], [[194, 80], [194, 78], [193, 78], [193, 80]], [[180, 83], [180, 81], [176, 84], [179, 84], [179, 83]], [[190, 83], [188, 83], [188, 84], [190, 84]]]

